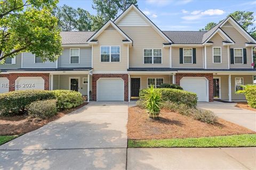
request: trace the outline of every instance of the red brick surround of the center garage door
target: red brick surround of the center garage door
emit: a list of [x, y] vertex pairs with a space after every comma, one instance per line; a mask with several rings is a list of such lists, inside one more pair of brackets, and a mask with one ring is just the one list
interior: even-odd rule
[[124, 101], [129, 98], [128, 74], [93, 74], [92, 75], [92, 100], [97, 101], [97, 80], [99, 78], [122, 78], [124, 80]]

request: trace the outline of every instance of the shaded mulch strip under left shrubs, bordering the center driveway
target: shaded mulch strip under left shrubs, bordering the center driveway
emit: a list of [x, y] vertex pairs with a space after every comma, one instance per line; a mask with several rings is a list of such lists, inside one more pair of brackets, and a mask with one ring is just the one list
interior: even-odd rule
[[88, 103], [83, 103], [81, 106], [71, 108], [65, 111], [58, 112], [55, 116], [41, 120], [39, 118], [31, 118], [29, 116], [0, 116], [0, 135], [24, 134], [41, 128], [45, 124], [55, 121], [66, 114], [81, 108]]

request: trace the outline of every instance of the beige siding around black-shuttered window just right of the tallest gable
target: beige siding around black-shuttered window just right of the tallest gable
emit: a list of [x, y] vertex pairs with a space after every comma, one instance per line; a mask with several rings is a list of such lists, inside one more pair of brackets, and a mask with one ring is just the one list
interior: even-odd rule
[[[180, 48], [196, 48], [196, 64], [180, 64]], [[172, 68], [203, 69], [203, 47], [172, 47]]]

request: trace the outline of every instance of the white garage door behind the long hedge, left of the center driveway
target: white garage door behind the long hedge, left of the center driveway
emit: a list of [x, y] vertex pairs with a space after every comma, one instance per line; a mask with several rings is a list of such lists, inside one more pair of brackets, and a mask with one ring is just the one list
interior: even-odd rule
[[42, 77], [19, 77], [15, 80], [15, 90], [44, 90]]

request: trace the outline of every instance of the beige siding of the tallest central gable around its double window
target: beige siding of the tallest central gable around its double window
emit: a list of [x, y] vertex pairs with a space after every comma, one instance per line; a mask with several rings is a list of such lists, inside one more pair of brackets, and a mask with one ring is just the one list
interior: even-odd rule
[[[152, 27], [120, 27], [133, 40], [129, 48], [129, 67], [170, 67], [170, 48], [163, 48], [167, 43]], [[162, 64], [144, 64], [143, 49], [162, 49]]]

